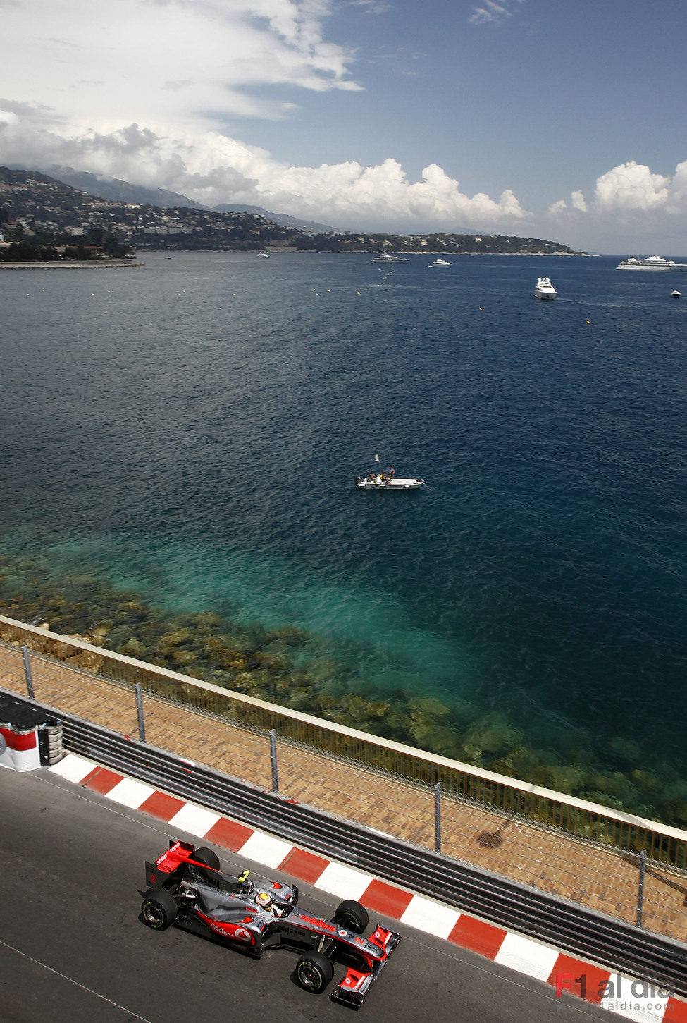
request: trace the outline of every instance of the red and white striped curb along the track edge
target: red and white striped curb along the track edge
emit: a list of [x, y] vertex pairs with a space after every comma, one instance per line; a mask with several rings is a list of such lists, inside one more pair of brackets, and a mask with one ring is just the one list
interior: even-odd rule
[[270, 870], [285, 872], [338, 898], [354, 898], [373, 913], [453, 944], [494, 963], [577, 994], [636, 1023], [687, 1023], [687, 1003], [658, 985], [558, 951], [524, 935], [468, 917], [452, 906], [397, 888], [363, 871], [308, 852], [177, 796], [125, 777], [92, 760], [68, 753], [49, 770], [107, 799], [142, 810], [214, 845], [239, 853]]

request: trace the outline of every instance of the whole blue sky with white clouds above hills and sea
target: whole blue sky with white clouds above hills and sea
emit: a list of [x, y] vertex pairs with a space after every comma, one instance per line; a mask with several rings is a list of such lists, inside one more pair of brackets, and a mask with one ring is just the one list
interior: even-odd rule
[[0, 164], [687, 255], [683, 0], [0, 0]]

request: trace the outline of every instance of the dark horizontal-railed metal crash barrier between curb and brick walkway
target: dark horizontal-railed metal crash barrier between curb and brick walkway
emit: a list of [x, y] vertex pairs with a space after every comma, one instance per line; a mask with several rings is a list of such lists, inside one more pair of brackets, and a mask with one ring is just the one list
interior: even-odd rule
[[[26, 701], [31, 706], [40, 706]], [[65, 750], [505, 928], [687, 995], [687, 946], [289, 802], [52, 708]]]

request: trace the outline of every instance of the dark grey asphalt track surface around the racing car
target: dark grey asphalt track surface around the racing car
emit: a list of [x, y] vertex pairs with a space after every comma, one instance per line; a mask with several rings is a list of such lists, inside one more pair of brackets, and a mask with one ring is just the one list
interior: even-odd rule
[[[260, 962], [140, 919], [144, 860], [164, 824], [41, 769], [0, 768], [0, 1020], [2, 1023], [263, 1023], [342, 1021], [354, 1012], [293, 979], [295, 954]], [[265, 869], [215, 847], [225, 870]], [[279, 877], [278, 872], [272, 876]], [[288, 881], [287, 876], [283, 880]], [[300, 904], [329, 917], [334, 901], [300, 884]], [[376, 920], [371, 920], [374, 924]], [[608, 1013], [441, 939], [380, 918], [403, 940], [358, 1019], [376, 1023], [550, 1023]], [[335, 980], [344, 974], [336, 968]]]

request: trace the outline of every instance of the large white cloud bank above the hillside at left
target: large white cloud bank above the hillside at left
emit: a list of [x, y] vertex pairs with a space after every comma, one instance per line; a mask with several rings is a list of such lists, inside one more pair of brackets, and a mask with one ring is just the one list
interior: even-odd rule
[[468, 221], [505, 230], [526, 216], [511, 190], [498, 199], [466, 195], [436, 164], [416, 181], [394, 159], [288, 166], [237, 137], [241, 118], [289, 117], [299, 90], [361, 89], [353, 50], [325, 37], [333, 7], [334, 0], [16, 0], [3, 8], [0, 161], [72, 166], [207, 206], [255, 204], [360, 229]]

